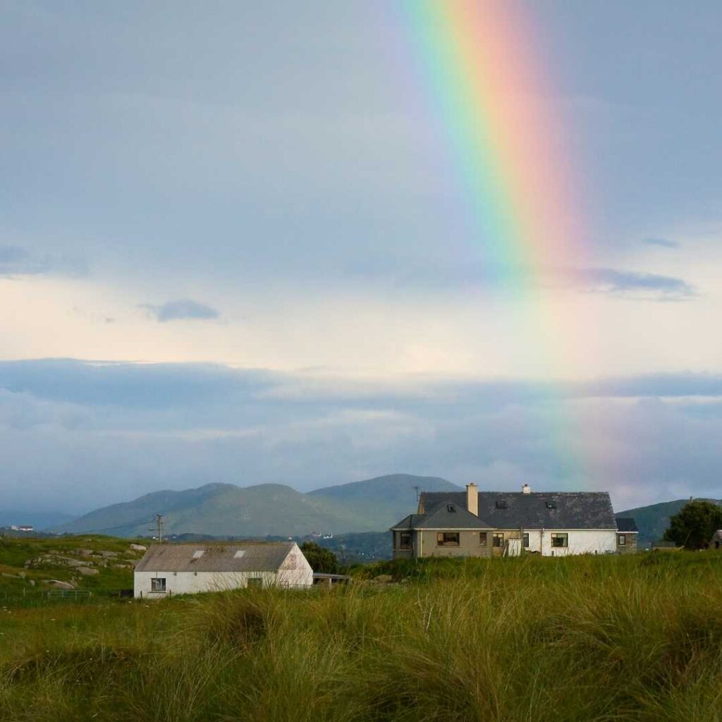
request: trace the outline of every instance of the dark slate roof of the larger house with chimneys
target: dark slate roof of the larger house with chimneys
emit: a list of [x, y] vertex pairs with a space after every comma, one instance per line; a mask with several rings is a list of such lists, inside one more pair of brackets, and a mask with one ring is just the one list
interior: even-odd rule
[[[414, 529], [422, 526], [437, 529], [474, 526], [480, 529], [617, 529], [608, 492], [479, 492], [478, 518], [466, 511], [466, 492], [422, 492], [421, 498], [426, 513], [404, 519], [404, 522], [412, 520], [409, 523], [413, 523]], [[440, 508], [448, 504], [456, 505], [456, 515], [442, 513], [437, 517]], [[476, 519], [477, 523], [467, 524], [467, 517]], [[432, 518], [443, 519], [448, 526], [436, 525]]]

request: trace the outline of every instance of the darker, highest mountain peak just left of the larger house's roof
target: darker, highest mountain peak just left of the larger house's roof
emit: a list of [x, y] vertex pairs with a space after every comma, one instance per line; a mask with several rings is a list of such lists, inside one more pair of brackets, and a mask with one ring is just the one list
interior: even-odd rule
[[[381, 526], [375, 531], [388, 529], [391, 524], [415, 513], [417, 509], [417, 491], [422, 492], [459, 492], [456, 484], [439, 477], [416, 477], [413, 474], [387, 474], [385, 477], [366, 479], [363, 482], [339, 484], [336, 487], [323, 487], [309, 496], [323, 497], [347, 505], [368, 518], [376, 518]], [[347, 531], [352, 531], [348, 529]]]

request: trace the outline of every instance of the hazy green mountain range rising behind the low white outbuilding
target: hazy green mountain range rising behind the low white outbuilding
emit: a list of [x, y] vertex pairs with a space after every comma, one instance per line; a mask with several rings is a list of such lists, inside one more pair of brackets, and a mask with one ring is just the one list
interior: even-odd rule
[[169, 535], [303, 536], [312, 531], [385, 531], [416, 509], [414, 487], [459, 490], [445, 479], [410, 474], [391, 474], [308, 494], [282, 484], [206, 484], [180, 492], [153, 492], [97, 509], [54, 529], [70, 534], [147, 535], [152, 517], [162, 514], [164, 531]]

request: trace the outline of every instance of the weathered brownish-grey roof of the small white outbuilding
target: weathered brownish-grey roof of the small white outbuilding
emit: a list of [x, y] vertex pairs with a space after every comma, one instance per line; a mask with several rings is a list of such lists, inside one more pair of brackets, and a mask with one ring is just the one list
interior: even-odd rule
[[292, 541], [153, 544], [145, 552], [135, 570], [136, 572], [275, 572], [293, 547]]

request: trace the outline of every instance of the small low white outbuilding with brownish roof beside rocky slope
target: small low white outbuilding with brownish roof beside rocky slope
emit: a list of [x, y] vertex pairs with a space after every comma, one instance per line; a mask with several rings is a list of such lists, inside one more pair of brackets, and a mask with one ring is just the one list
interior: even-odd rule
[[312, 585], [313, 570], [292, 541], [153, 544], [134, 575], [134, 595], [143, 599], [250, 586]]

